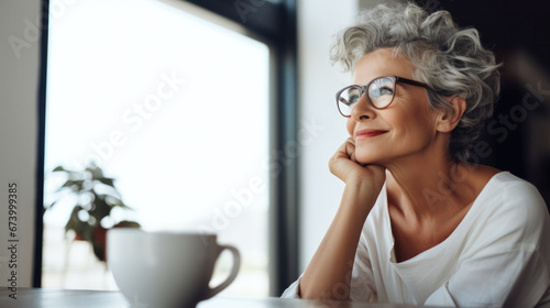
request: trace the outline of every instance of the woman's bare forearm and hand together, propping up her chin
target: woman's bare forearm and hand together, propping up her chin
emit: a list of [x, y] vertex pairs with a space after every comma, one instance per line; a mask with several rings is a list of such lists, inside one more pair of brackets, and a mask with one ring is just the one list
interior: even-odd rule
[[329, 168], [345, 183], [345, 188], [337, 215], [301, 276], [299, 295], [342, 300], [350, 297], [350, 273], [359, 239], [384, 186], [386, 172], [382, 166], [359, 163], [351, 138], [330, 158]]

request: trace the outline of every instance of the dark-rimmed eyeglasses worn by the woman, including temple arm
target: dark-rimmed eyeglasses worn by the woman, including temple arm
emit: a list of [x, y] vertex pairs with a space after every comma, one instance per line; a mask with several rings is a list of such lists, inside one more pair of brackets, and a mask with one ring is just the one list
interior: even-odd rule
[[359, 99], [366, 92], [366, 100], [376, 109], [387, 108], [395, 97], [395, 82], [404, 82], [417, 87], [428, 88], [428, 85], [397, 76], [382, 76], [373, 79], [366, 86], [348, 86], [337, 92], [338, 111], [345, 117], [351, 117], [351, 110]]

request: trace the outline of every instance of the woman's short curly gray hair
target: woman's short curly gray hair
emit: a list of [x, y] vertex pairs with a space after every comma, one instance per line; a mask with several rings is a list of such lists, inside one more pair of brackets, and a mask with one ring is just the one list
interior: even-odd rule
[[446, 97], [454, 95], [466, 101], [449, 143], [451, 158], [466, 161], [501, 88], [493, 53], [482, 46], [475, 29], [458, 28], [448, 11], [428, 14], [414, 3], [380, 4], [337, 34], [330, 59], [350, 72], [363, 55], [387, 47], [416, 66], [414, 78], [430, 87], [431, 108], [452, 112]]

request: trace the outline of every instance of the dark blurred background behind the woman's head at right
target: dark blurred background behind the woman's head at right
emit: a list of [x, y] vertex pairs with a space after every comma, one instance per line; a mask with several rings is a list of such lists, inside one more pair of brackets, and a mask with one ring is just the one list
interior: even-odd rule
[[535, 184], [550, 205], [550, 2], [417, 2], [429, 11], [448, 10], [459, 25], [477, 29], [503, 64], [501, 98], [477, 157]]

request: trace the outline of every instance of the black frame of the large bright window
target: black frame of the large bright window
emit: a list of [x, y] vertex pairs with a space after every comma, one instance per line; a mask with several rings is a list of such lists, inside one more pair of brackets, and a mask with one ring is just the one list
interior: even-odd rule
[[[270, 108], [270, 157], [276, 164], [270, 187], [270, 294], [279, 296], [298, 277], [298, 157], [288, 157], [287, 148], [297, 144], [297, 42], [296, 0], [180, 0], [234, 21], [267, 41], [274, 53], [275, 101]], [[45, 151], [46, 68], [50, 0], [42, 0], [41, 66], [38, 89], [38, 153], [36, 180], [36, 231], [33, 286], [42, 285], [43, 182]], [[287, 157], [285, 157], [287, 156]]]

